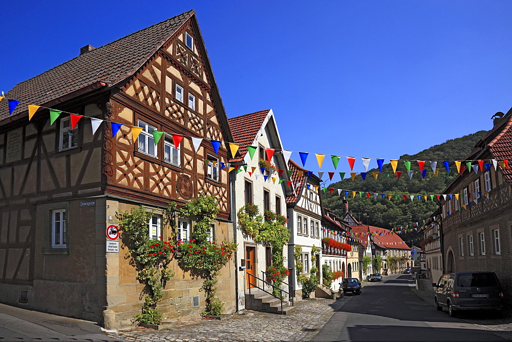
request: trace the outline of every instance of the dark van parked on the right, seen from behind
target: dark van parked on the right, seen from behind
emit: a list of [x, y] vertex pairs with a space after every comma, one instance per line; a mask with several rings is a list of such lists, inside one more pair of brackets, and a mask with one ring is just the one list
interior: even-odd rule
[[450, 316], [463, 310], [501, 310], [503, 291], [494, 272], [457, 272], [443, 274], [436, 288], [437, 310], [448, 309]]

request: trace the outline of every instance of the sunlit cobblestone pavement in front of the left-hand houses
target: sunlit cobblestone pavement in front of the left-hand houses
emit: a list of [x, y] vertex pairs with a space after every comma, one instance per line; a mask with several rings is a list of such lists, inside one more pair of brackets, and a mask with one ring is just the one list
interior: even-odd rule
[[[121, 330], [108, 335], [122, 340], [309, 340], [317, 334], [350, 296], [337, 301], [324, 298], [296, 303], [297, 310], [290, 315], [276, 315], [244, 310], [244, 315], [233, 314], [229, 320], [200, 319], [177, 324], [175, 328], [155, 331], [141, 327]], [[308, 330], [313, 331], [308, 331]]]

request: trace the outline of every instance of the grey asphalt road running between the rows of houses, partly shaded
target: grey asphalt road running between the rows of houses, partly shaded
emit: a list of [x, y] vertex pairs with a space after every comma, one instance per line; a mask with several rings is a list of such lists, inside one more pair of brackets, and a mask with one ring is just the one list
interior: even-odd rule
[[313, 340], [503, 340], [447, 312], [437, 311], [409, 289], [411, 275], [386, 276], [362, 289], [331, 317]]

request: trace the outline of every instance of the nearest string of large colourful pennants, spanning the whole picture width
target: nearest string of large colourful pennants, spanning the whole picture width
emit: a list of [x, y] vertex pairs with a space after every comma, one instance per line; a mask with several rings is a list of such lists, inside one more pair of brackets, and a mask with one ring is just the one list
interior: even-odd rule
[[[4, 96], [0, 96], [0, 101], [2, 101], [2, 99], [4, 99]], [[52, 109], [52, 108], [41, 106], [41, 105], [34, 105], [32, 103], [24, 102], [24, 101], [21, 101], [21, 100], [15, 100], [15, 99], [7, 98], [7, 101], [9, 102], [8, 103], [9, 104], [9, 115], [11, 115], [13, 113], [13, 111], [16, 109], [16, 107], [18, 106], [19, 103], [27, 104], [28, 105], [28, 112], [29, 112], [29, 120], [32, 119], [32, 117], [35, 115], [37, 110], [39, 110], [40, 108], [45, 108], [45, 109], [48, 109], [50, 111], [50, 124], [53, 124], [55, 122], [55, 120], [57, 120], [57, 118], [62, 113], [66, 113], [66, 114], [70, 115], [70, 117], [71, 117], [71, 127], [72, 127], [72, 129], [74, 129], [74, 127], [76, 126], [78, 121], [83, 117], [83, 115], [78, 115], [78, 114], [71, 113], [71, 112], [66, 112], [66, 111], [60, 111], [60, 110]], [[133, 141], [137, 140], [139, 134], [143, 130], [142, 127], [126, 125], [126, 124], [121, 124], [121, 123], [117, 123], [117, 122], [114, 122], [114, 121], [96, 119], [96, 118], [92, 118], [92, 117], [89, 117], [89, 118], [91, 119], [93, 134], [96, 132], [96, 130], [98, 129], [99, 125], [102, 122], [104, 122], [104, 121], [111, 123], [111, 125], [112, 125], [112, 135], [113, 136], [115, 136], [119, 132], [119, 130], [121, 129], [121, 126], [130, 127], [131, 130], [132, 130], [132, 137], [133, 137], [132, 139], [133, 139]], [[220, 141], [220, 140], [210, 140], [210, 139], [206, 139], [206, 138], [198, 138], [198, 137], [192, 137], [192, 136], [185, 136], [185, 135], [181, 135], [181, 134], [169, 133], [169, 132], [163, 132], [163, 131], [152, 131], [152, 134], [154, 136], [155, 144], [158, 143], [158, 141], [160, 140], [160, 138], [162, 137], [162, 135], [164, 133], [167, 133], [167, 134], [169, 134], [169, 135], [171, 135], [173, 137], [173, 141], [175, 142], [175, 146], [178, 146], [179, 143], [181, 142], [181, 140], [184, 137], [190, 138], [192, 140], [192, 142], [193, 142], [193, 145], [194, 145], [194, 148], [195, 148], [196, 152], [197, 152], [197, 149], [199, 148], [199, 146], [201, 145], [202, 140], [209, 140], [210, 141], [212, 147], [214, 148], [215, 154], [217, 154], [220, 145], [222, 143], [224, 143], [225, 145], [229, 146], [229, 151], [231, 152], [231, 156], [233, 156], [233, 157], [236, 155], [237, 151], [239, 150], [239, 148], [241, 146], [240, 144], [236, 144], [236, 143], [233, 143], [233, 142], [223, 142], [223, 141]], [[250, 158], [252, 159], [254, 157], [254, 152], [257, 151], [257, 149], [258, 149], [258, 146], [247, 145], [246, 147], [247, 147], [247, 151], [249, 152]], [[289, 150], [278, 149], [278, 148], [266, 148], [265, 150], [266, 150], [265, 152], [266, 152], [268, 160], [271, 160], [271, 158], [272, 158], [272, 156], [274, 155], [275, 152], [278, 152], [278, 153], [281, 152], [283, 154], [285, 160], [286, 160], [286, 163], [288, 163], [288, 160], [290, 159], [292, 152], [296, 152], [296, 153], [299, 154], [303, 166], [306, 166], [306, 160], [307, 160], [307, 157], [309, 155], [309, 153], [307, 153], [307, 152], [289, 151]], [[318, 163], [319, 168], [322, 168], [322, 165], [323, 165], [323, 162], [324, 162], [324, 159], [325, 159], [326, 155], [325, 154], [318, 154], [318, 153], [315, 153], [314, 155], [316, 156], [316, 161]], [[353, 171], [353, 169], [354, 169], [354, 165], [355, 165], [356, 159], [360, 159], [361, 162], [362, 162], [363, 167], [365, 168], [365, 173], [360, 173], [360, 174], [366, 174], [368, 172], [370, 161], [372, 159], [376, 160], [377, 166], [379, 168], [379, 172], [380, 173], [382, 173], [382, 165], [384, 164], [384, 161], [385, 160], [389, 160], [390, 163], [391, 163], [391, 167], [393, 169], [393, 173], [396, 174], [397, 173], [396, 168], [397, 168], [397, 165], [398, 165], [398, 161], [400, 160], [400, 159], [362, 158], [362, 157], [350, 157], [350, 156], [331, 155], [331, 160], [332, 160], [334, 169], [337, 169], [339, 160], [342, 157], [345, 157], [347, 159], [347, 162], [348, 162], [348, 164], [350, 166], [350, 170], [351, 171]], [[485, 163], [485, 161], [487, 161], [487, 163]], [[419, 169], [420, 173], [423, 174], [424, 166], [425, 166], [425, 163], [427, 161], [424, 161], [424, 160], [404, 160], [404, 159], [402, 159], [402, 162], [404, 163], [404, 166], [406, 167], [408, 174], [410, 174], [412, 172], [411, 171], [411, 162], [417, 162], [418, 169]], [[464, 168], [467, 168], [471, 172], [471, 168], [474, 168], [473, 166], [476, 166], [476, 165], [472, 165], [472, 162], [478, 162], [478, 166], [480, 166], [480, 169], [482, 171], [483, 171], [483, 167], [484, 166], [487, 169], [489, 169], [490, 165], [494, 165], [494, 167], [496, 169], [498, 164], [502, 168], [508, 168], [508, 160], [507, 159], [502, 159], [502, 160], [497, 160], [497, 159], [466, 160], [466, 161], [460, 161], [460, 160], [459, 161], [429, 161], [429, 162], [430, 162], [430, 166], [431, 166], [431, 168], [432, 168], [434, 173], [436, 172], [436, 168], [437, 168], [438, 162], [441, 162], [444, 165], [444, 167], [446, 168], [447, 172], [450, 172], [450, 164], [451, 163], [455, 164], [455, 166], [457, 168], [457, 171], [459, 173], [462, 173], [464, 171]], [[466, 165], [463, 165], [462, 163], [465, 163]], [[462, 168], [462, 172], [461, 172], [461, 168]], [[376, 177], [376, 176], [374, 175], [374, 177]], [[410, 174], [410, 177], [412, 177], [412, 174]]]

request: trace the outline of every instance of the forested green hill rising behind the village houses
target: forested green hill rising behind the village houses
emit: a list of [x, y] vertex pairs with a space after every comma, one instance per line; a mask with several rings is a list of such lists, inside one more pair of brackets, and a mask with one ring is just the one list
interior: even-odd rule
[[[441, 191], [446, 187], [446, 185], [455, 178], [457, 170], [453, 163], [451, 163], [453, 170], [451, 170], [449, 175], [446, 173], [446, 169], [444, 169], [443, 164], [438, 162], [437, 167], [440, 168], [440, 170], [436, 177], [430, 168], [429, 161], [463, 160], [471, 153], [475, 144], [486, 133], [487, 131], [479, 131], [461, 138], [447, 140], [442, 144], [432, 146], [415, 155], [400, 156], [397, 170], [402, 171], [402, 175], [399, 180], [395, 175], [393, 175], [391, 164], [388, 163], [383, 165], [382, 171], [389, 171], [389, 178], [386, 178], [383, 174], [379, 174], [377, 180], [375, 180], [371, 173], [378, 172], [378, 168], [374, 168], [368, 170], [368, 176], [365, 181], [363, 181], [360, 176], [356, 176], [355, 180], [352, 181], [350, 176], [347, 174], [348, 176], [346, 177], [349, 177], [348, 179], [324, 186], [379, 194], [441, 194]], [[410, 180], [409, 175], [407, 174], [407, 169], [402, 161], [403, 159], [424, 160], [424, 168], [427, 170], [425, 179], [421, 177], [418, 163], [412, 161], [411, 170], [414, 170], [414, 174]], [[372, 166], [376, 165], [375, 160], [372, 160], [371, 163]], [[336, 215], [342, 216], [343, 194], [342, 196], [335, 195], [337, 195], [336, 191], [334, 191], [333, 195], [329, 195], [329, 191], [327, 191], [324, 195], [324, 206], [331, 209]], [[360, 222], [364, 224], [370, 224], [382, 228], [394, 228], [428, 219], [438, 208], [437, 202], [430, 201], [430, 198], [427, 202], [419, 202], [417, 198], [412, 202], [410, 200], [405, 202], [403, 201], [403, 198], [401, 198], [401, 200], [393, 198], [391, 201], [388, 201], [387, 198], [385, 200], [374, 200], [373, 196], [371, 196], [370, 199], [366, 198], [366, 195], [364, 198], [359, 198], [358, 195], [356, 195], [355, 198], [352, 198], [349, 194], [347, 201], [349, 202], [350, 212], [356, 219], [360, 219]], [[403, 240], [411, 240], [417, 238], [418, 234], [407, 233], [402, 234], [401, 237]]]

